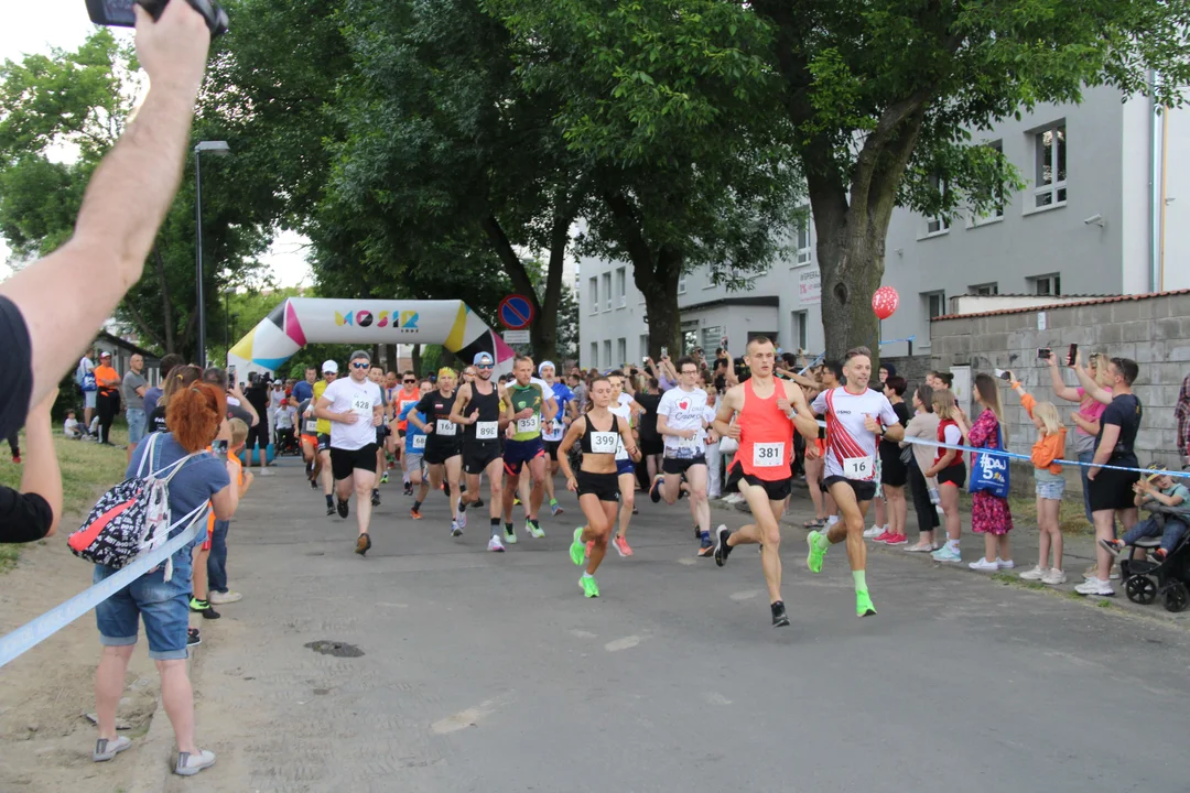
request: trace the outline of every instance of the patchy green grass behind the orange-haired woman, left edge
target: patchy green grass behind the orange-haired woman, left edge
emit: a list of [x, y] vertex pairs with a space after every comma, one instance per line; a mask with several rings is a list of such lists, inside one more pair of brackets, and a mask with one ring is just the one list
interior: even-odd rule
[[[24, 433], [21, 433], [20, 440], [24, 454]], [[58, 524], [57, 535], [50, 542], [56, 542], [77, 529], [79, 523], [95, 504], [99, 495], [124, 479], [127, 453], [119, 447], [126, 441], [127, 434], [121, 426], [112, 429], [112, 442], [117, 445], [117, 448], [68, 440], [58, 430], [55, 430], [54, 446], [57, 452], [58, 466], [62, 468], [63, 518]], [[7, 448], [2, 449], [2, 453], [4, 457], [0, 457], [0, 484], [19, 489], [24, 466], [8, 461]], [[19, 549], [20, 546], [0, 545], [0, 572], [17, 564]]]

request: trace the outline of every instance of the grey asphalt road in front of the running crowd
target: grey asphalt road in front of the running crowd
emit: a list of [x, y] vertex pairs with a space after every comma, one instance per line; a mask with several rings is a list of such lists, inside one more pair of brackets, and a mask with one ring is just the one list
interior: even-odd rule
[[696, 560], [685, 503], [647, 498], [588, 600], [569, 493], [546, 539], [491, 554], [486, 509], [452, 540], [444, 497], [414, 522], [390, 484], [361, 559], [287, 465], [232, 524], [244, 600], [202, 624], [202, 789], [1186, 789], [1177, 627], [894, 553], [860, 619], [843, 547], [812, 575], [787, 529], [775, 630], [757, 554]]

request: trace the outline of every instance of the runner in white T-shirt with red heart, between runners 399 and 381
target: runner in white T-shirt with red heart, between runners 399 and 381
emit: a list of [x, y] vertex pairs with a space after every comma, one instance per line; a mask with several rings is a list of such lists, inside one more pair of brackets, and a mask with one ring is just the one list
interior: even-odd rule
[[674, 504], [682, 495], [690, 496], [690, 515], [701, 540], [700, 556], [715, 553], [710, 542], [710, 504], [707, 503], [707, 392], [695, 386], [699, 365], [690, 357], [677, 361], [677, 388], [662, 396], [657, 405], [657, 432], [665, 439], [662, 473], [649, 491], [656, 504], [665, 499]]

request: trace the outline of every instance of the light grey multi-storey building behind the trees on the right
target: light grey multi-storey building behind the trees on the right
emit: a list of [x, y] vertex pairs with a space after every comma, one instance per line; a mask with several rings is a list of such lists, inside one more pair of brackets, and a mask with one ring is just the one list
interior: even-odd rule
[[[1028, 187], [990, 216], [946, 224], [897, 209], [889, 226], [884, 283], [901, 296], [883, 322], [885, 342], [915, 338], [929, 350], [929, 320], [966, 294], [1115, 295], [1190, 288], [1190, 114], [1155, 114], [1146, 99], [1086, 92], [1078, 106], [1042, 105], [1020, 121], [975, 134], [1000, 146]], [[1178, 200], [1180, 196], [1180, 200]], [[708, 352], [727, 336], [737, 354], [751, 336], [784, 350], [823, 344], [813, 225], [797, 251], [729, 292], [706, 271], [678, 284], [687, 347]], [[645, 303], [632, 265], [583, 259], [578, 277], [581, 364], [608, 367], [646, 354]], [[908, 352], [904, 341], [887, 354]]]

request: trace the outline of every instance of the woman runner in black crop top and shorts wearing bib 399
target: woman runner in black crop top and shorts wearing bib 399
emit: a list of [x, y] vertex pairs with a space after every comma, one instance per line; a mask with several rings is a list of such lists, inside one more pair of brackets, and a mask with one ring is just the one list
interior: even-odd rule
[[[591, 408], [587, 415], [570, 424], [570, 430], [562, 440], [558, 459], [566, 476], [566, 487], [578, 493], [578, 506], [587, 517], [587, 525], [575, 529], [574, 542], [570, 545], [570, 561], [582, 566], [587, 556], [587, 569], [578, 579], [578, 586], [589, 598], [599, 597], [599, 581], [595, 571], [599, 569], [607, 543], [615, 525], [616, 496], [620, 490], [620, 477], [616, 474], [616, 449], [627, 451], [628, 459], [640, 460], [640, 451], [635, 446], [628, 424], [613, 414], [612, 383], [606, 377], [596, 377], [589, 389]], [[583, 461], [575, 476], [566, 459], [570, 447], [578, 441], [583, 452]]]

